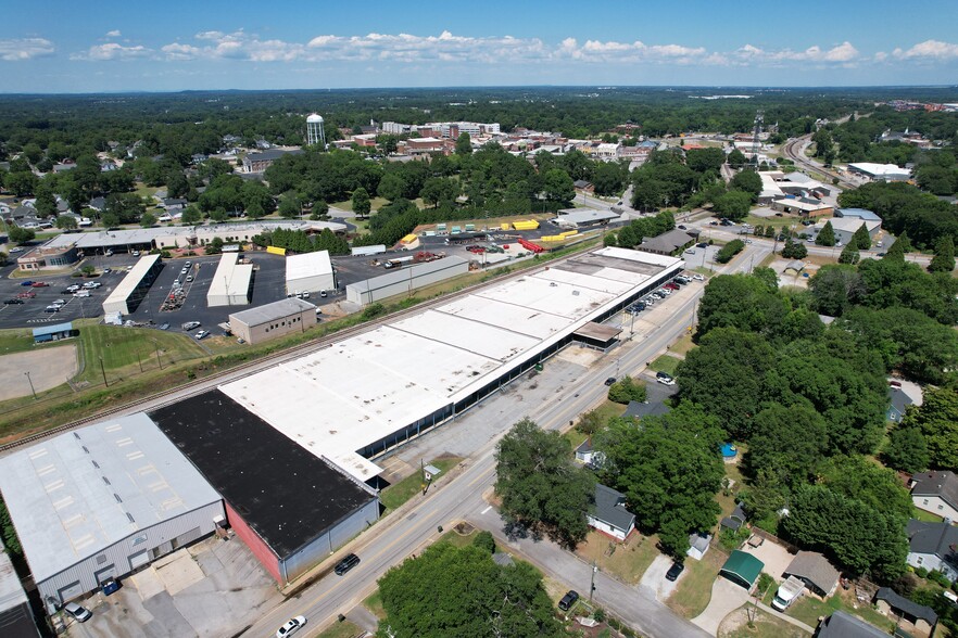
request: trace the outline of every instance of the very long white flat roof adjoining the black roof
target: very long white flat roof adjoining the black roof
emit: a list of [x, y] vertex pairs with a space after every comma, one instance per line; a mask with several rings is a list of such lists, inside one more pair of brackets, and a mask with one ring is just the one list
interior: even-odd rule
[[[360, 480], [356, 454], [467, 398], [683, 261], [608, 247], [527, 272], [219, 387]], [[306, 418], [307, 416], [307, 418]]]

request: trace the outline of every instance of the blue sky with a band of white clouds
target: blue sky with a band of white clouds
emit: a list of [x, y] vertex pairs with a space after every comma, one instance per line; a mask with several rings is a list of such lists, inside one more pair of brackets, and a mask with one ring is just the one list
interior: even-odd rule
[[7, 0], [0, 92], [958, 84], [958, 0]]

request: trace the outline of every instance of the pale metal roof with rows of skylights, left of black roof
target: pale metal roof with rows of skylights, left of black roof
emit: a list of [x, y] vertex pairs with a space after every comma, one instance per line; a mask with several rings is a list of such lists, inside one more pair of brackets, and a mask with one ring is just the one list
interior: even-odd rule
[[3, 457], [0, 492], [37, 582], [138, 529], [220, 500], [142, 412]]

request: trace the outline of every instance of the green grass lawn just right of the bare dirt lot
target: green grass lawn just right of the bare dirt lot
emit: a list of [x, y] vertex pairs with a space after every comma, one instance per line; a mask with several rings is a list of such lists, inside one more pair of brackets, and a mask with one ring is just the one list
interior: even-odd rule
[[140, 362], [143, 370], [159, 368], [157, 352], [164, 366], [205, 356], [194, 340], [162, 330], [86, 324], [79, 326], [79, 340], [85, 366], [77, 381], [94, 385], [103, 382], [104, 371], [114, 381], [140, 373]]

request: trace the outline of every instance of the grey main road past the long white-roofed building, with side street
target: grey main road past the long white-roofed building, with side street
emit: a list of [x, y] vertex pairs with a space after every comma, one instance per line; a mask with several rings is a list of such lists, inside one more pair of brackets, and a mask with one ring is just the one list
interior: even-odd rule
[[[770, 252], [770, 245], [748, 244], [742, 254], [717, 271], [747, 271], [752, 264], [758, 264]], [[516, 393], [499, 393], [486, 399], [458, 417], [465, 423], [459, 422], [457, 426], [468, 428], [469, 419], [489, 419], [491, 414], [507, 424], [529, 417], [542, 428], [560, 430], [568, 426], [581, 413], [604, 400], [607, 388], [603, 380], [618, 373], [641, 373], [647, 361], [664, 353], [667, 345], [689, 330], [704, 288], [701, 282], [693, 282], [681, 291], [684, 294], [676, 293], [656, 304], [656, 328], [646, 334], [635, 333], [614, 353], [601, 357], [585, 375], [578, 379], [577, 392], [553, 395], [553, 400], [540, 400], [530, 409], [529, 401], [516, 400], [516, 395], [524, 392], [520, 386]], [[549, 373], [550, 363], [546, 363], [539, 378]], [[516, 382], [528, 383], [530, 382], [526, 379]], [[521, 396], [518, 398], [521, 399]], [[491, 493], [495, 481], [493, 455], [501, 436], [502, 433], [476, 449], [457, 469], [457, 475], [440, 480], [425, 497], [415, 497], [377, 523], [350, 547], [337, 552], [338, 557], [355, 552], [362, 558], [362, 563], [352, 572], [342, 577], [329, 574], [320, 578], [297, 597], [265, 614], [243, 635], [270, 636], [282, 622], [294, 615], [307, 618], [308, 635], [318, 633], [336, 622], [338, 614], [349, 612], [373, 594], [376, 580], [389, 567], [402, 563], [407, 557], [420, 552], [433, 543], [440, 536], [437, 529], [440, 525], [450, 529], [456, 522], [466, 520], [501, 534], [502, 522], [483, 498]], [[588, 591], [590, 566], [552, 543], [515, 540], [508, 543], [507, 551], [522, 554], [550, 577], [567, 583], [579, 591]], [[596, 583], [595, 601], [643, 635], [652, 638], [707, 636], [655, 600], [651, 591], [623, 585], [604, 574], [597, 575]]]

